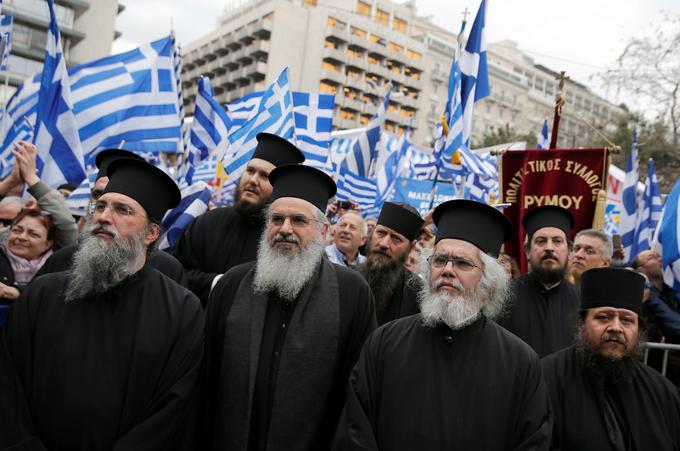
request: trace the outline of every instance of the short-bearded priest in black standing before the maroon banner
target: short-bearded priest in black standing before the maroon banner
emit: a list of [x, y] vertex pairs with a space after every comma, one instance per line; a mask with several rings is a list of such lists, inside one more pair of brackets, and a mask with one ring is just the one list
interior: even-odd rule
[[537, 207], [524, 214], [522, 225], [531, 269], [515, 279], [500, 324], [544, 357], [574, 340], [579, 295], [565, 279], [574, 217], [561, 207]]

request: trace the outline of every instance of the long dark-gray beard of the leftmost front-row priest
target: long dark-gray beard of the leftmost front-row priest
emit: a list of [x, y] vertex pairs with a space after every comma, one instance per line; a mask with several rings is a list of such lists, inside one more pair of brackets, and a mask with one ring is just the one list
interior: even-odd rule
[[146, 230], [123, 238], [107, 228], [115, 234], [109, 241], [93, 234], [98, 227], [88, 224], [83, 231], [83, 239], [73, 256], [73, 266], [67, 277], [66, 302], [101, 294], [115, 287], [136, 272], [137, 262], [146, 254]]

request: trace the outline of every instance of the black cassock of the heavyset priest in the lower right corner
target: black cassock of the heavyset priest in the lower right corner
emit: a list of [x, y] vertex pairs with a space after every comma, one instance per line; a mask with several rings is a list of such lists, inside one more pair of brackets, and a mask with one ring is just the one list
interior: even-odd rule
[[573, 347], [541, 364], [554, 412], [553, 449], [680, 449], [678, 388], [655, 370], [636, 363], [631, 379], [604, 384], [583, 367]]

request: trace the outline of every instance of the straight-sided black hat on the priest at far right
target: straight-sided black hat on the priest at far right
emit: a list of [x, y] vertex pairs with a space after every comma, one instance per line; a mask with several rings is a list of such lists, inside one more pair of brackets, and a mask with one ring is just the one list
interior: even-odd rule
[[614, 307], [642, 314], [645, 278], [623, 268], [592, 268], [581, 276], [581, 309]]

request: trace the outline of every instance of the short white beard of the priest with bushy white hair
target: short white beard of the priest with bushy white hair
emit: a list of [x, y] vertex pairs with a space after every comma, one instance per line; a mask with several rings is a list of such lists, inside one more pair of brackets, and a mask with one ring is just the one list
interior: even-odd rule
[[428, 284], [423, 284], [418, 293], [418, 300], [424, 325], [434, 327], [444, 323], [453, 330], [462, 329], [475, 322], [481, 314], [484, 303], [483, 294], [479, 289], [475, 289], [471, 294], [461, 291], [458, 296], [451, 296], [446, 292], [434, 291]]

